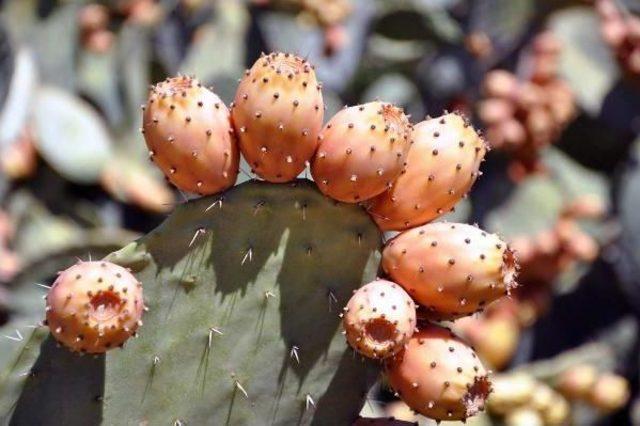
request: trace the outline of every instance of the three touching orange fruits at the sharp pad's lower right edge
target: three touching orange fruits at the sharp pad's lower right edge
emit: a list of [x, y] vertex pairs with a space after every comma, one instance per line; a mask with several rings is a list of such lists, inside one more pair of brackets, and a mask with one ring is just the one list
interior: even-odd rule
[[354, 293], [343, 314], [348, 342], [384, 359], [391, 386], [423, 415], [460, 420], [484, 409], [491, 385], [476, 352], [429, 320], [468, 316], [509, 294], [518, 269], [511, 249], [471, 225], [432, 223], [389, 241], [382, 268], [395, 282]]

